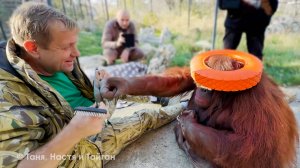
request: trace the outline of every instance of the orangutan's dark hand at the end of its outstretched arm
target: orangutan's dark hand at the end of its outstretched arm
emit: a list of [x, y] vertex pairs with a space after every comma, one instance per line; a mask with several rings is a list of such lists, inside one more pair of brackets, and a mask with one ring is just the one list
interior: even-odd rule
[[105, 78], [100, 82], [100, 94], [103, 98], [113, 99], [128, 93], [128, 81], [120, 77]]

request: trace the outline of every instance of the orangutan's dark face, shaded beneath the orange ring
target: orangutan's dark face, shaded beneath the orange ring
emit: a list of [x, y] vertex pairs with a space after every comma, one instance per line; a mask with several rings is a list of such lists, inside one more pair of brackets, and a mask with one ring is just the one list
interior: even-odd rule
[[213, 91], [201, 87], [195, 90], [194, 104], [201, 108], [208, 108], [211, 104]]

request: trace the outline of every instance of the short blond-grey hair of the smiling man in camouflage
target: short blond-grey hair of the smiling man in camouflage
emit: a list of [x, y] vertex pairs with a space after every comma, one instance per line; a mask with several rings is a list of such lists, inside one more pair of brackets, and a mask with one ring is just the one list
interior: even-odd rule
[[69, 30], [78, 28], [74, 20], [46, 4], [24, 3], [10, 17], [12, 38], [19, 46], [22, 46], [25, 40], [34, 40], [47, 48], [51, 41], [49, 25], [52, 21], [61, 21]]

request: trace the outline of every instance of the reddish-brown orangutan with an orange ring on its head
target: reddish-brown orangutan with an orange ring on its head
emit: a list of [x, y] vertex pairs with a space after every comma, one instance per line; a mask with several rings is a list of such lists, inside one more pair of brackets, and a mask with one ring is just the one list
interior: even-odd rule
[[[226, 56], [211, 56], [206, 64], [217, 70], [243, 67]], [[213, 167], [285, 168], [296, 157], [296, 119], [284, 94], [266, 74], [256, 86], [242, 91], [217, 91], [193, 81], [188, 68], [162, 75], [135, 78], [112, 77], [102, 81], [103, 97], [120, 95], [174, 96], [194, 90], [175, 127], [179, 147], [201, 167], [199, 159]]]

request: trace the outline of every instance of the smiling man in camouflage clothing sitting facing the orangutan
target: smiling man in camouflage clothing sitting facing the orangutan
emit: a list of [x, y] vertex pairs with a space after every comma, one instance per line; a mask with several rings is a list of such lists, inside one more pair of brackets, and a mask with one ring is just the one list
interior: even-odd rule
[[[0, 51], [0, 167], [102, 167], [101, 155], [118, 154], [182, 109], [179, 104], [140, 110], [110, 120], [102, 130], [107, 116], [74, 115], [39, 76], [62, 71], [93, 101], [92, 85], [77, 62], [76, 23], [43, 4], [25, 3], [10, 26], [13, 38]], [[97, 139], [88, 138], [99, 132]]]

